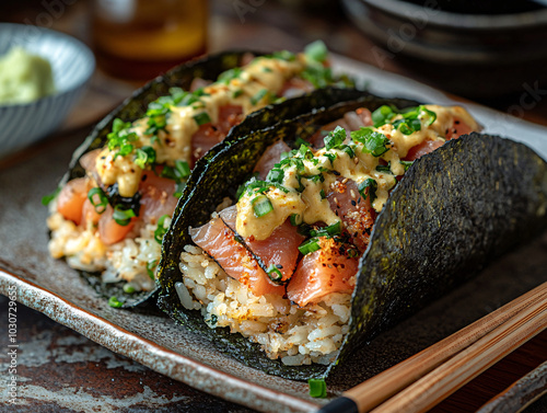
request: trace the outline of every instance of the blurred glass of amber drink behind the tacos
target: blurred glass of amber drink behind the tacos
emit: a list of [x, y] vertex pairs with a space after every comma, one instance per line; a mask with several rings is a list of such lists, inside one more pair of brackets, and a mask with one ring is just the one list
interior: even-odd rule
[[92, 41], [98, 66], [147, 80], [206, 53], [207, 0], [94, 0]]

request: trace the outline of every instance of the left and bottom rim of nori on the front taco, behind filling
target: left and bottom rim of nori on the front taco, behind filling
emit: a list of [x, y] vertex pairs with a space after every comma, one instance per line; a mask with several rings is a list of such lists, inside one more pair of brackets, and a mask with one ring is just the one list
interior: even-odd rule
[[206, 223], [223, 197], [232, 196], [233, 198], [237, 185], [249, 175], [258, 158], [274, 141], [281, 137], [288, 137], [288, 140], [291, 140], [301, 134], [311, 135], [318, 126], [341, 117], [348, 111], [358, 107], [374, 110], [384, 104], [408, 107], [416, 105], [417, 102], [362, 94], [356, 101], [317, 108], [293, 121], [255, 130], [246, 136], [232, 135], [212, 148], [197, 162], [177, 205], [170, 230], [164, 237], [158, 274], [162, 286], [158, 299], [160, 308], [188, 331], [206, 336], [221, 352], [252, 367], [291, 379], [306, 380], [311, 377], [323, 377], [327, 366], [283, 366], [280, 360], [266, 357], [258, 344], [251, 343], [241, 334], [231, 334], [228, 328], [210, 329], [203, 322], [199, 311], [185, 310], [175, 290], [175, 283], [182, 279], [178, 268], [179, 255], [184, 245], [193, 243], [188, 227]]

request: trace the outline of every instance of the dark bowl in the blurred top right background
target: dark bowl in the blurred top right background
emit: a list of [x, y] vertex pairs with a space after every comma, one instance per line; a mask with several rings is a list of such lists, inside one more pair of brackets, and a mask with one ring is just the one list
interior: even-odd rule
[[382, 58], [396, 59], [442, 89], [492, 97], [547, 81], [547, 7], [540, 0], [412, 1], [342, 4], [382, 47]]

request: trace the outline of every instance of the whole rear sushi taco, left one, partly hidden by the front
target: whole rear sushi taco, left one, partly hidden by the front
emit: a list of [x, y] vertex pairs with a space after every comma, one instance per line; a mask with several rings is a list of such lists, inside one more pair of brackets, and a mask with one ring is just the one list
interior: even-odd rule
[[49, 203], [50, 254], [112, 306], [140, 302], [156, 287], [162, 238], [195, 162], [232, 128], [246, 135], [362, 95], [334, 88], [350, 85], [321, 43], [302, 54], [222, 53], [153, 80], [75, 151]]

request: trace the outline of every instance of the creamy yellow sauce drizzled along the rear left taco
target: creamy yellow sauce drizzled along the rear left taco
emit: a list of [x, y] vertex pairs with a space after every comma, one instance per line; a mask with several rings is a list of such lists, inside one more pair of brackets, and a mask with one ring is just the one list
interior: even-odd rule
[[[266, 106], [271, 96], [281, 91], [284, 82], [306, 68], [306, 57], [296, 55], [294, 60], [258, 57], [242, 68], [241, 73], [228, 82], [217, 81], [203, 88], [205, 94], [199, 102], [187, 106], [171, 106], [165, 130], [161, 130], [158, 140], [146, 135], [148, 118], [133, 123], [131, 131], [139, 139], [133, 147], [152, 147], [156, 152], [156, 163], [173, 165], [174, 161], [189, 161], [191, 157], [191, 137], [199, 129], [195, 116], [207, 113], [212, 125], [219, 122], [220, 107], [231, 104], [242, 106], [246, 115]], [[263, 90], [265, 94], [257, 99]], [[133, 196], [138, 191], [142, 169], [135, 161], [135, 154], [117, 156], [116, 150], [103, 149], [96, 159], [96, 170], [101, 181], [106, 185], [118, 184], [121, 196]]]

